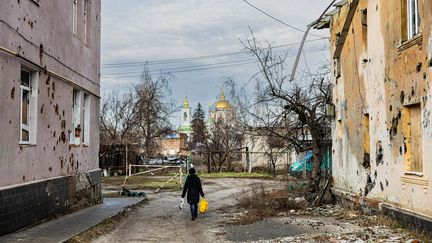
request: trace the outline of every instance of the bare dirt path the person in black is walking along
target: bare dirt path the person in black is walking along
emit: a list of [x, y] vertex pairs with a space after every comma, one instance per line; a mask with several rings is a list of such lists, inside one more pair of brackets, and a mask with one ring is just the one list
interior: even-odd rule
[[[204, 179], [203, 189], [209, 201], [209, 211], [190, 220], [189, 205], [179, 210], [180, 192], [150, 194], [149, 203], [139, 207], [110, 234], [94, 242], [215, 242], [218, 225], [223, 220], [218, 212], [235, 204], [233, 194], [261, 180], [252, 179]], [[264, 183], [277, 184], [262, 180]]]

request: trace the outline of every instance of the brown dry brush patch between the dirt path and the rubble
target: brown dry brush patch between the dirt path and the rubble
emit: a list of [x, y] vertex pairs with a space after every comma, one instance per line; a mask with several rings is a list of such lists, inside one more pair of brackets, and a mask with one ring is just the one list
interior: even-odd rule
[[304, 209], [304, 202], [296, 202], [295, 195], [287, 191], [271, 190], [266, 191], [263, 183], [251, 185], [249, 190], [243, 191], [235, 196], [240, 207], [245, 213], [234, 219], [232, 224], [251, 224], [265, 218], [273, 217], [280, 212], [291, 209]]

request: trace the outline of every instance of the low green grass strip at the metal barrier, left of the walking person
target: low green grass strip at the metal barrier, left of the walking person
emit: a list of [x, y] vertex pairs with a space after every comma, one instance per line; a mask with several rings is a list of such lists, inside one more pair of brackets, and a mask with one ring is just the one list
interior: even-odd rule
[[[124, 176], [103, 177], [102, 184], [105, 187], [120, 187], [123, 185], [124, 179]], [[156, 190], [165, 184], [169, 179], [170, 177], [132, 176], [128, 178], [125, 187], [129, 190]], [[163, 187], [163, 189], [180, 190], [181, 186], [179, 179], [177, 178], [170, 181]]]

